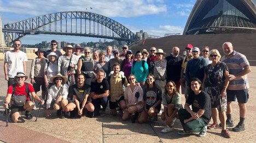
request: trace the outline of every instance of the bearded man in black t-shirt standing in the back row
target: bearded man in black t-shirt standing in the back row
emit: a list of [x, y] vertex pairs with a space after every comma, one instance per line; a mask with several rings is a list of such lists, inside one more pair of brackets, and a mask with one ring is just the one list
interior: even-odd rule
[[179, 48], [173, 47], [172, 54], [165, 58], [167, 60], [167, 81], [172, 80], [176, 84], [176, 90], [179, 92], [179, 88], [181, 88], [181, 69], [182, 69], [182, 61], [183, 57], [179, 55]]

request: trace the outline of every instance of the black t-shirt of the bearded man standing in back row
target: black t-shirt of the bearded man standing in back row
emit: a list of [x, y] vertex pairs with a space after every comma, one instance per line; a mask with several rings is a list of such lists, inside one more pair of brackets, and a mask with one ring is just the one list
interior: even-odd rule
[[172, 55], [169, 55], [165, 59], [167, 60], [167, 80], [177, 81], [181, 79], [182, 61], [184, 58], [181, 55], [178, 55], [178, 57], [173, 57]]

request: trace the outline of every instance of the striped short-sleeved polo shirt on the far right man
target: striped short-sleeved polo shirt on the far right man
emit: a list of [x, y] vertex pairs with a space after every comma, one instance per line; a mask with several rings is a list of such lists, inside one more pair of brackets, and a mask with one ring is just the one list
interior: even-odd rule
[[[246, 56], [234, 51], [228, 57], [224, 55], [222, 61], [229, 67], [229, 74], [238, 74], [244, 70], [246, 66], [249, 66], [249, 62]], [[249, 82], [247, 74], [242, 77], [236, 77], [236, 79], [230, 80], [228, 90], [243, 90], [249, 88]]]

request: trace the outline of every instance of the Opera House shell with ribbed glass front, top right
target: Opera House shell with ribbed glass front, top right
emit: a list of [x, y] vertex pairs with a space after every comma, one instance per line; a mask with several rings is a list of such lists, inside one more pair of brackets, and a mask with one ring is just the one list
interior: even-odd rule
[[255, 0], [197, 0], [183, 35], [256, 33]]

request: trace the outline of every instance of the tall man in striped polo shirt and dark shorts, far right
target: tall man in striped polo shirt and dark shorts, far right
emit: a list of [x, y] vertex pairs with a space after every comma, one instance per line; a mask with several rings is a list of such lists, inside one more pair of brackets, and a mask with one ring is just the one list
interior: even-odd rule
[[226, 90], [226, 96], [228, 101], [228, 110], [226, 111], [226, 126], [234, 126], [234, 122], [232, 121], [231, 117], [231, 102], [236, 101], [237, 98], [238, 106], [240, 109], [240, 122], [237, 124], [236, 127], [232, 128], [232, 130], [235, 132], [240, 132], [242, 130], [245, 130], [244, 122], [247, 113], [246, 103], [249, 98], [249, 82], [247, 74], [251, 72], [251, 67], [245, 55], [234, 51], [231, 42], [224, 42], [222, 48], [225, 53], [222, 61], [226, 63], [229, 68], [230, 80], [229, 86]]

